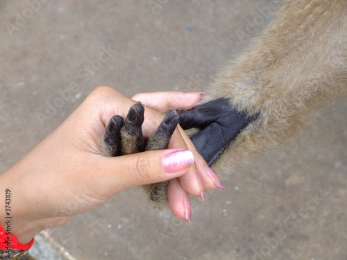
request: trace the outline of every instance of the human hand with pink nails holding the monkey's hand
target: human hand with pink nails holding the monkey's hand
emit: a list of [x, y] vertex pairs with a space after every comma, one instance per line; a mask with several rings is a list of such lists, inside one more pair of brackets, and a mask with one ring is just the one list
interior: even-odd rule
[[[175, 95], [182, 95], [184, 105], [177, 98], [170, 101], [164, 93], [134, 98], [161, 112], [192, 106], [200, 99], [198, 93], [170, 96]], [[101, 153], [105, 125], [115, 114], [125, 116], [134, 103], [114, 89], [99, 87], [49, 137], [0, 176], [1, 189], [10, 189], [15, 195], [11, 207], [12, 234], [19, 242], [28, 243], [42, 229], [61, 225], [71, 216], [97, 207], [120, 191], [137, 185], [180, 176], [179, 180], [170, 182], [168, 190], [171, 211], [180, 219], [190, 218], [188, 193], [199, 196], [203, 187], [217, 187], [206, 174], [198, 174], [205, 162], [194, 147], [191, 149], [194, 155], [188, 150], [192, 143], [181, 129], [174, 132], [168, 150], [122, 157], [105, 157]], [[164, 114], [146, 107], [145, 118], [143, 132], [148, 137]], [[164, 160], [173, 160], [172, 155], [176, 155], [176, 164], [166, 167]], [[0, 200], [5, 201], [2, 196], [4, 192]]]

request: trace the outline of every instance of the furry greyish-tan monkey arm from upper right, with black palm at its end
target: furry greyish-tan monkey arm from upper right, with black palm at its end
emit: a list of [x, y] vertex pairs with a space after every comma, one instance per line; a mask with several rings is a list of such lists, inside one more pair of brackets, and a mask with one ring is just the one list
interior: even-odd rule
[[[242, 116], [221, 116], [218, 123], [203, 125], [204, 130], [192, 137], [199, 152], [209, 153], [205, 156], [213, 160], [226, 146], [214, 169], [230, 172], [237, 162], [295, 136], [321, 101], [346, 94], [346, 42], [346, 1], [285, 1], [277, 19], [219, 74], [205, 98], [205, 102], [228, 98], [230, 111], [257, 118], [244, 125]], [[217, 118], [221, 112], [214, 105], [210, 108]], [[196, 120], [192, 114], [182, 116], [187, 113], [183, 112], [183, 125], [206, 123], [199, 107], [192, 111], [197, 112]], [[239, 130], [246, 127], [237, 137], [223, 139], [235, 120], [243, 125]], [[214, 150], [216, 146], [221, 149]]]

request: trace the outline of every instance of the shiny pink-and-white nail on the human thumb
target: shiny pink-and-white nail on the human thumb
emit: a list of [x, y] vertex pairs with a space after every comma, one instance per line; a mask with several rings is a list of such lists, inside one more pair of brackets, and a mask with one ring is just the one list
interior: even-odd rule
[[162, 157], [162, 168], [165, 173], [183, 171], [193, 163], [194, 155], [190, 150], [178, 150]]

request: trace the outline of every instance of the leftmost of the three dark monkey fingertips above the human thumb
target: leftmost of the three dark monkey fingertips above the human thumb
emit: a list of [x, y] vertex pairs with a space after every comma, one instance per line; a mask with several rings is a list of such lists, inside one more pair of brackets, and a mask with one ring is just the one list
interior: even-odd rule
[[113, 116], [108, 123], [103, 141], [106, 146], [107, 154], [110, 156], [118, 156], [121, 153], [121, 128], [124, 119], [121, 116]]

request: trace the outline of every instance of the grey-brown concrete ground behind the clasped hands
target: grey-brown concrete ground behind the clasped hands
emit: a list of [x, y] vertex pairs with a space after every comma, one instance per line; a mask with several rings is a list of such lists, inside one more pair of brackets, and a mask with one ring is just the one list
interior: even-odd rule
[[[96, 86], [109, 85], [127, 96], [207, 89], [244, 41], [271, 21], [262, 12], [269, 1], [38, 3], [0, 2], [0, 173], [57, 128]], [[240, 36], [259, 15], [264, 19], [257, 32]], [[117, 53], [92, 76], [83, 76], [85, 67], [97, 64], [103, 46]], [[44, 113], [71, 82], [80, 91], [41, 125], [37, 112]], [[192, 223], [176, 220], [168, 209], [153, 210], [140, 189], [130, 189], [46, 230], [32, 255], [346, 260], [346, 109], [342, 100], [322, 105], [301, 139], [240, 166], [225, 181], [225, 191], [196, 203]], [[44, 256], [40, 247], [62, 257]]]

